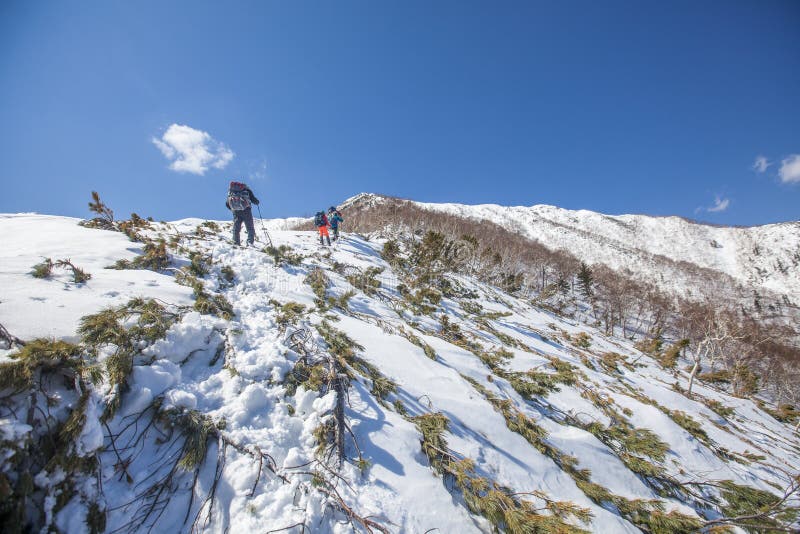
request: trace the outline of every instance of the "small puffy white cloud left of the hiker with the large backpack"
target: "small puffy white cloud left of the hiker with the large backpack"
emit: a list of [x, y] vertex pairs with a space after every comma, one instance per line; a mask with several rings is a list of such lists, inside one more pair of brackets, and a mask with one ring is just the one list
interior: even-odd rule
[[183, 124], [171, 124], [161, 139], [153, 137], [152, 141], [170, 160], [169, 168], [177, 172], [202, 175], [209, 168], [224, 169], [235, 156], [207, 132]]

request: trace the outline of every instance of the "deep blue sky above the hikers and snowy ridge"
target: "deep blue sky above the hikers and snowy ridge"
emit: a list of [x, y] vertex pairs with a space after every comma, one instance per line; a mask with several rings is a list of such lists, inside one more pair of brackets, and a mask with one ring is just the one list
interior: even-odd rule
[[5, 0], [0, 80], [0, 212], [800, 219], [797, 1]]

